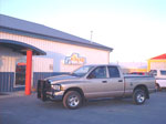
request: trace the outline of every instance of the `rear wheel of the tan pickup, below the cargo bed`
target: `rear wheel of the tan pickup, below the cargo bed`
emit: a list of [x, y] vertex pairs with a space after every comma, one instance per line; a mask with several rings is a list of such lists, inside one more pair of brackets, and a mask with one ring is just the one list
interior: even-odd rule
[[146, 101], [146, 92], [143, 89], [136, 89], [133, 93], [133, 102], [134, 104], [141, 105]]

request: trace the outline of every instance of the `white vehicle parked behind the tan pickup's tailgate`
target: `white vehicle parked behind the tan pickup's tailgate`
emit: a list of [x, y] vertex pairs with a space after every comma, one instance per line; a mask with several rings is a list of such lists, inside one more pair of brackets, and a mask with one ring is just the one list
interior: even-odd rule
[[156, 78], [157, 91], [166, 89], [166, 70], [151, 70], [149, 74]]

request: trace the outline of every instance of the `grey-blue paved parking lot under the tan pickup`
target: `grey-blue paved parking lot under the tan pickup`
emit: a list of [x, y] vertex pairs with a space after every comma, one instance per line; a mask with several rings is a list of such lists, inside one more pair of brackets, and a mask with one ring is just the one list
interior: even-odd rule
[[131, 99], [91, 101], [79, 110], [42, 102], [35, 93], [0, 95], [0, 124], [165, 124], [166, 91], [151, 94], [144, 105]]

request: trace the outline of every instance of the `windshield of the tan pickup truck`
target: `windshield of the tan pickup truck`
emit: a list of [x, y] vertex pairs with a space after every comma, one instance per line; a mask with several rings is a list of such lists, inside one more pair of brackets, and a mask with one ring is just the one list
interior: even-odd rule
[[84, 65], [75, 70], [72, 75], [74, 76], [84, 76], [90, 70], [92, 70], [92, 65]]

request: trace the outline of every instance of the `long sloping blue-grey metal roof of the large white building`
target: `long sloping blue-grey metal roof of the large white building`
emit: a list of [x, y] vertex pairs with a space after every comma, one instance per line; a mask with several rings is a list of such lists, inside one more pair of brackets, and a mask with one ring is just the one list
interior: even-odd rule
[[56, 29], [3, 14], [0, 14], [0, 31], [107, 51], [113, 50], [112, 48], [59, 31]]

